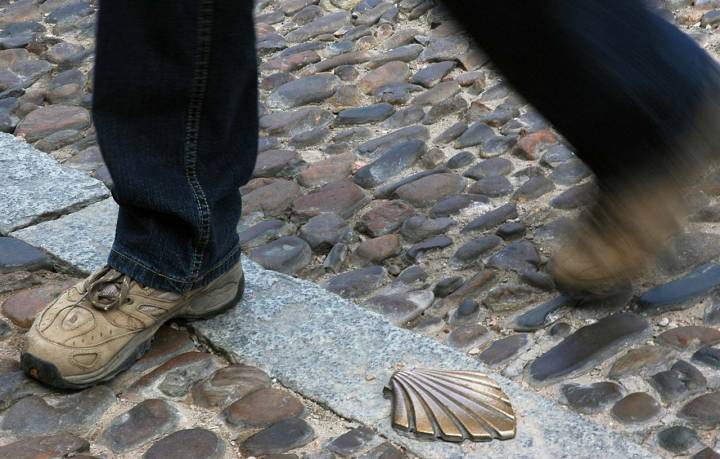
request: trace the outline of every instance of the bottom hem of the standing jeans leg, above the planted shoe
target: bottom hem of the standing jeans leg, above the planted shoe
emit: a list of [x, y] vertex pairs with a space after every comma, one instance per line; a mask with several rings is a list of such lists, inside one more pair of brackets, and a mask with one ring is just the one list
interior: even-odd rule
[[167, 292], [186, 293], [205, 287], [228, 272], [239, 261], [240, 245], [238, 244], [212, 268], [194, 276], [192, 279], [178, 279], [158, 272], [158, 270], [147, 266], [147, 264], [128, 254], [127, 251], [116, 246], [110, 251], [108, 266], [129, 276], [143, 286]]

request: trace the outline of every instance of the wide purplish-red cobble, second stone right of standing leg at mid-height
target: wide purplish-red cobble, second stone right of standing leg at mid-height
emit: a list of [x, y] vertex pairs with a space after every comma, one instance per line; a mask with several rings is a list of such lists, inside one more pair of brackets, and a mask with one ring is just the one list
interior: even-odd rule
[[342, 218], [350, 218], [369, 200], [362, 188], [348, 180], [342, 180], [297, 198], [293, 207], [296, 214], [305, 218], [324, 212], [335, 212]]

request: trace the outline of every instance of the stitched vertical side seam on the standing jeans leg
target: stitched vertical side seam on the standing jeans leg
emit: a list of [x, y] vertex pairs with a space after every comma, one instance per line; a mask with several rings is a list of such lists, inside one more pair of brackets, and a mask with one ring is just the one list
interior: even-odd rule
[[210, 242], [210, 206], [197, 176], [200, 126], [210, 67], [210, 51], [213, 32], [213, 0], [201, 0], [198, 14], [198, 48], [193, 69], [190, 100], [185, 125], [185, 178], [192, 190], [199, 217], [199, 238], [191, 259], [191, 278], [202, 268], [205, 249]]

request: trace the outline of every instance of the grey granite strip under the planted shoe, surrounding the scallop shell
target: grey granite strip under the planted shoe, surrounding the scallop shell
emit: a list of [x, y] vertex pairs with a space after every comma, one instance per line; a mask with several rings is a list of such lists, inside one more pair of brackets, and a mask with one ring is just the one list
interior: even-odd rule
[[[89, 272], [110, 249], [117, 206], [111, 199], [12, 233]], [[232, 359], [260, 366], [291, 390], [370, 426], [424, 458], [654, 457], [640, 445], [567, 411], [479, 361], [398, 328], [318, 285], [245, 259], [245, 299], [230, 313], [195, 322]], [[400, 367], [479, 370], [498, 382], [518, 417], [514, 440], [461, 445], [419, 441], [390, 426], [383, 387]]]

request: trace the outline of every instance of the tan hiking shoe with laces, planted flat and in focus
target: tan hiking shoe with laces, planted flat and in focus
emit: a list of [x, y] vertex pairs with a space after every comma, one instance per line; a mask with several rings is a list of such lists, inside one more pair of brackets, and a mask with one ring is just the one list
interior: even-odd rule
[[184, 294], [143, 287], [106, 266], [38, 315], [27, 333], [22, 368], [61, 389], [107, 381], [147, 351], [162, 324], [227, 311], [244, 286], [240, 262], [206, 287]]

